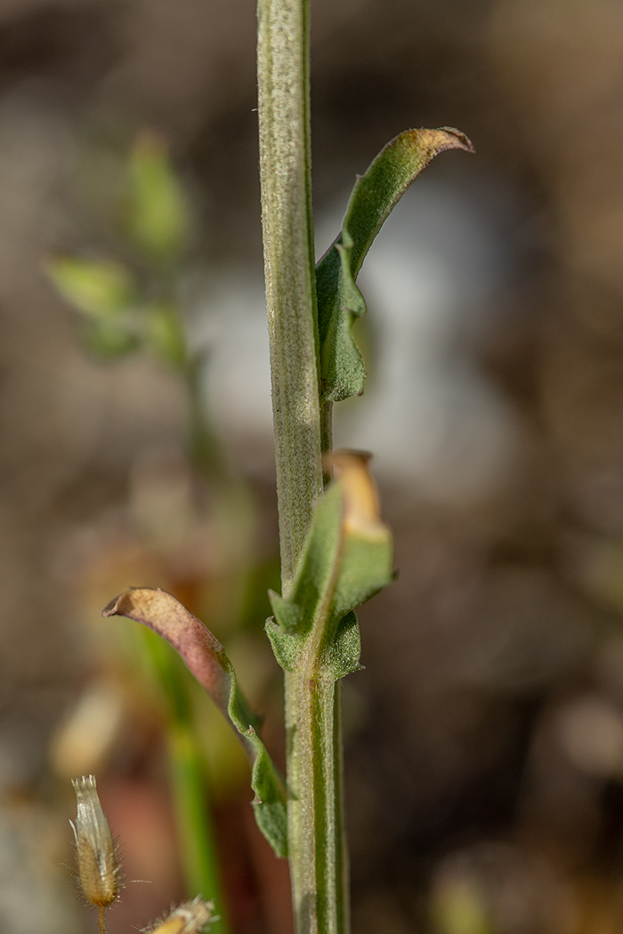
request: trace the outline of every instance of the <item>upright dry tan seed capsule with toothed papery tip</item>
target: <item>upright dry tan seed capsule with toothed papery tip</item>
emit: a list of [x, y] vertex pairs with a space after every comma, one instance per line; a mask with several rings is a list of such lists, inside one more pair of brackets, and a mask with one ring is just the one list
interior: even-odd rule
[[76, 823], [70, 821], [76, 838], [78, 880], [85, 899], [99, 909], [100, 927], [106, 908], [120, 893], [120, 862], [106, 814], [97, 796], [95, 776], [72, 781], [78, 801]]

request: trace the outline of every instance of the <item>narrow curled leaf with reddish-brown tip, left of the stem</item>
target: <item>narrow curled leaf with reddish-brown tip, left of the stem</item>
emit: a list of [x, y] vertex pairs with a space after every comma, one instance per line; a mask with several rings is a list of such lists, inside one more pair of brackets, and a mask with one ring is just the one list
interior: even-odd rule
[[255, 819], [277, 856], [287, 854], [283, 780], [260, 739], [260, 719], [238, 689], [234, 667], [218, 639], [201, 620], [163, 590], [136, 587], [110, 601], [103, 616], [128, 616], [169, 642], [238, 734], [251, 762]]

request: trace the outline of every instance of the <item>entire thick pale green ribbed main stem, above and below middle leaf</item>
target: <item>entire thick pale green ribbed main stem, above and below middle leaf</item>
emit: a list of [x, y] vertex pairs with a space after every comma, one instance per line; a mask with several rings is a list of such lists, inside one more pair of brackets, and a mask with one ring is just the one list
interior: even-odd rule
[[[259, 0], [262, 227], [275, 421], [281, 576], [288, 597], [315, 502], [321, 449], [311, 216], [308, 0]], [[323, 428], [321, 430], [321, 422]], [[288, 849], [298, 934], [347, 934], [339, 690], [286, 672]]]

